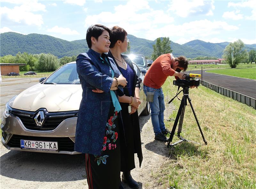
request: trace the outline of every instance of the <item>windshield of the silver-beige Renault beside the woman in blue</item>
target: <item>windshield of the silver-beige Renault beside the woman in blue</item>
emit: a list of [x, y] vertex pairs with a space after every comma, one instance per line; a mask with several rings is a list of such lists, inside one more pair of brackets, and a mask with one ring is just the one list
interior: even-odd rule
[[44, 81], [44, 84], [80, 84], [76, 64], [66, 64]]

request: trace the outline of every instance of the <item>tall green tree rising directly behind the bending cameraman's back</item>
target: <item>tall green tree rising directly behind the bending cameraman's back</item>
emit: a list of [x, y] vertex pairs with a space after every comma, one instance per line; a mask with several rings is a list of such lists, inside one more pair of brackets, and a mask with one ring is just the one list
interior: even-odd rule
[[171, 45], [171, 41], [169, 37], [164, 37], [162, 41], [160, 38], [157, 38], [156, 44], [153, 45], [153, 54], [151, 58], [153, 60], [156, 60], [156, 58], [162, 54], [171, 53], [172, 49], [170, 45]]

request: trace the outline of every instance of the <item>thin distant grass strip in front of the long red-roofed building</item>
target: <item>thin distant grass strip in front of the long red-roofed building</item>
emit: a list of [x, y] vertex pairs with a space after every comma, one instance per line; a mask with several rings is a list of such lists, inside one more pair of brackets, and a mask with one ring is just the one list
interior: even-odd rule
[[[228, 64], [188, 64], [188, 70], [196, 70], [196, 69], [201, 69], [201, 67], [203, 67], [203, 69], [226, 69], [226, 68], [230, 68], [230, 66]], [[249, 63], [249, 64], [244, 64], [244, 63], [240, 63], [237, 65], [237, 68], [255, 68], [256, 64], [255, 63]]]

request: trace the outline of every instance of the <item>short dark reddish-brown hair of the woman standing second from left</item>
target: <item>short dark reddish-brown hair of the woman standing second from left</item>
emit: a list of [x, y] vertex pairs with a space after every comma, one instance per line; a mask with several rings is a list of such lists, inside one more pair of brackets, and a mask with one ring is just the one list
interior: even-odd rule
[[127, 35], [127, 32], [124, 30], [124, 28], [119, 27], [119, 26], [114, 26], [110, 30], [110, 45], [109, 48], [115, 47], [115, 44], [117, 40], [120, 40], [124, 42], [124, 38]]

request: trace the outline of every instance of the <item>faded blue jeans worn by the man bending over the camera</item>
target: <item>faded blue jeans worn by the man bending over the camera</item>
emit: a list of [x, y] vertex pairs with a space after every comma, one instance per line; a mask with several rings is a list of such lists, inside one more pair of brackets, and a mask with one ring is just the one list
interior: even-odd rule
[[165, 131], [165, 125], [164, 125], [164, 93], [162, 87], [159, 89], [155, 89], [148, 86], [143, 86], [144, 93], [147, 96], [148, 92], [154, 92], [154, 101], [149, 102], [150, 109], [151, 109], [151, 121], [153, 125], [153, 130], [155, 132], [155, 135], [158, 135], [162, 131]]

